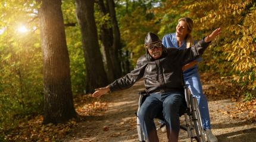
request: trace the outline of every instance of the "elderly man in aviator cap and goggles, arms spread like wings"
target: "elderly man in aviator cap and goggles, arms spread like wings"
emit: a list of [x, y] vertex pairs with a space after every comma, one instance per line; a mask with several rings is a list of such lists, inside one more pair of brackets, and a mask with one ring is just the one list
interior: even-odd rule
[[204, 37], [195, 46], [179, 50], [167, 49], [157, 35], [148, 33], [145, 38], [146, 54], [138, 59], [135, 69], [110, 85], [95, 89], [93, 96], [99, 97], [109, 91], [129, 88], [144, 78], [149, 96], [139, 109], [138, 117], [147, 141], [159, 141], [154, 124], [158, 112], [164, 114], [168, 141], [178, 141], [179, 111], [183, 101], [182, 66], [201, 56], [218, 34], [220, 28]]

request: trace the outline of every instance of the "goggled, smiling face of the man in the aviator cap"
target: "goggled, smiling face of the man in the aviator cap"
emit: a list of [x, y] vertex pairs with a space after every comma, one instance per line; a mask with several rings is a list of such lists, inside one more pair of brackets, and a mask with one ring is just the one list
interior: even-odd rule
[[148, 53], [152, 58], [158, 59], [161, 57], [163, 51], [161, 41], [149, 44], [148, 46], [146, 46], [146, 48], [148, 49]]

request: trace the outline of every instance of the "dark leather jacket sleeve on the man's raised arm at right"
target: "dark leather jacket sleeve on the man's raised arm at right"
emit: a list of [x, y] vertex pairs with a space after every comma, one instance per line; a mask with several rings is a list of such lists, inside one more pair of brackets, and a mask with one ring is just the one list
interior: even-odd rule
[[176, 55], [176, 59], [180, 60], [183, 65], [192, 62], [204, 53], [204, 50], [209, 46], [210, 43], [205, 43], [204, 39], [198, 41], [194, 46], [185, 50], [176, 50], [177, 53], [172, 53]]

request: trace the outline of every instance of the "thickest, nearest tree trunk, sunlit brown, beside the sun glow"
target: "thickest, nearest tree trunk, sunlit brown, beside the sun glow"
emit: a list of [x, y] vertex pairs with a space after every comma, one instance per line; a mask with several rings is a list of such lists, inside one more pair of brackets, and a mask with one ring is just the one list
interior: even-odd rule
[[76, 118], [61, 0], [38, 2], [42, 2], [38, 12], [45, 93], [43, 124], [57, 124]]

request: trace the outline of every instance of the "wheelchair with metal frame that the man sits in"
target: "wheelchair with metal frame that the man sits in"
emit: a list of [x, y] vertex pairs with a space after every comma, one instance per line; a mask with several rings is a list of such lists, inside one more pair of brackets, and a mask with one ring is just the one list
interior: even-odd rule
[[[202, 126], [202, 119], [199, 111], [198, 101], [192, 94], [188, 93], [187, 85], [184, 85], [184, 90], [185, 90], [184, 94], [185, 94], [186, 108], [183, 111], [180, 111], [181, 113], [180, 117], [184, 115], [185, 126], [180, 125], [180, 129], [188, 132], [188, 137], [191, 139], [191, 141], [196, 140], [198, 142], [206, 142], [207, 138], [205, 137], [205, 130]], [[143, 134], [137, 114], [139, 112], [139, 109], [143, 101], [145, 101], [146, 96], [148, 96], [148, 94], [145, 91], [143, 91], [143, 92], [139, 92], [139, 95], [140, 95], [139, 107], [138, 107], [137, 113], [135, 113], [137, 118], [137, 130], [138, 130], [139, 141], [146, 141], [146, 138]], [[159, 120], [164, 121], [163, 113], [160, 113], [157, 118]], [[162, 124], [160, 128], [164, 127], [164, 125], [165, 124]]]

